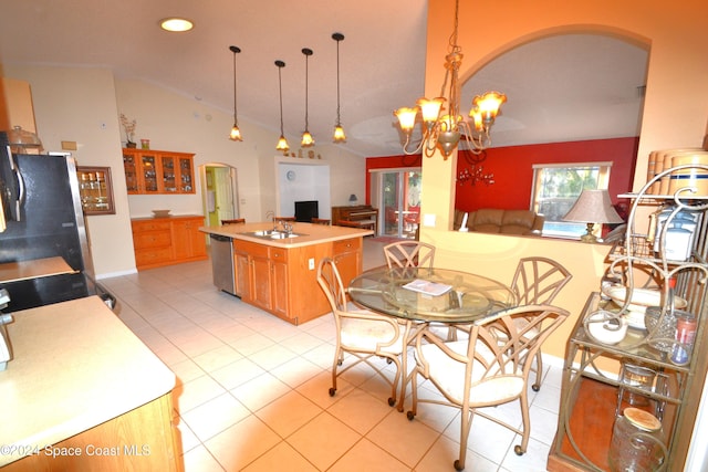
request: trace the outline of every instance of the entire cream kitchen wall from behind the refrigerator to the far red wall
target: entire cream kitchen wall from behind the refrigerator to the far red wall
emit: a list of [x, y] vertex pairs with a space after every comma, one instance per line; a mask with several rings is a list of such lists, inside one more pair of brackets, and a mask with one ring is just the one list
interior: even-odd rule
[[[127, 195], [121, 113], [137, 120], [135, 138], [150, 139], [150, 148], [194, 153], [195, 170], [205, 164], [236, 167], [241, 218], [263, 221], [266, 211], [275, 210], [278, 129], [239, 116], [244, 140], [231, 141], [232, 111], [138, 80], [115, 78], [104, 69], [2, 64], [2, 71], [7, 77], [30, 83], [37, 132], [45, 149], [61, 150], [62, 140], [73, 140], [79, 165], [111, 167], [116, 214], [86, 218], [98, 277], [135, 271], [131, 218], [152, 216], [150, 210], [158, 208], [169, 208], [174, 214], [204, 214], [200, 179], [195, 195]], [[334, 145], [315, 149], [331, 166], [332, 204], [346, 204], [350, 193], [364, 195], [364, 158]]]

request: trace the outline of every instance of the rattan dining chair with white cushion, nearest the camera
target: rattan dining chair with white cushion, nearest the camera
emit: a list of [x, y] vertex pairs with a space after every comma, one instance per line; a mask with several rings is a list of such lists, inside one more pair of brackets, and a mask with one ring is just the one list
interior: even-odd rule
[[[455, 469], [465, 469], [467, 441], [475, 415], [521, 436], [514, 452], [522, 455], [529, 445], [528, 381], [532, 359], [541, 345], [563, 323], [570, 312], [551, 305], [524, 305], [499, 312], [470, 325], [469, 337], [446, 342], [429, 328], [418, 332], [415, 343], [416, 366], [410, 374], [413, 420], [418, 403], [445, 405], [460, 409], [460, 451]], [[523, 318], [524, 323], [517, 321]], [[501, 336], [500, 336], [501, 335]], [[500, 342], [502, 339], [503, 342]], [[419, 398], [417, 376], [434, 386], [444, 398]], [[519, 401], [521, 428], [490, 415], [487, 407]]]

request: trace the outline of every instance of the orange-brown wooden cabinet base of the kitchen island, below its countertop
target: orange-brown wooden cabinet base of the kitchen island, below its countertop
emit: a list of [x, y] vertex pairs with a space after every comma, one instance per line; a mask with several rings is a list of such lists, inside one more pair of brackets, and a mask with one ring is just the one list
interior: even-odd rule
[[233, 239], [236, 295], [293, 324], [331, 311], [317, 284], [317, 264], [335, 258], [345, 284], [362, 272], [362, 238], [296, 248]]

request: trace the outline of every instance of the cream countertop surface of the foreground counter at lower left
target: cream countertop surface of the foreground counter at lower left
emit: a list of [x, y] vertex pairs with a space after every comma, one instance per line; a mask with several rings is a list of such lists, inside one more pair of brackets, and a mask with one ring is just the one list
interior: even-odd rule
[[12, 313], [0, 466], [169, 392], [175, 375], [97, 296]]

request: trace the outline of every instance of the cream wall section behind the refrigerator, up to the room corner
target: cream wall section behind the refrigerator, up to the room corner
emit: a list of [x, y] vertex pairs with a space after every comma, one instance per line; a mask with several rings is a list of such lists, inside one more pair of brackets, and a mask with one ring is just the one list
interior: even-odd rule
[[80, 166], [111, 167], [116, 213], [86, 217], [94, 270], [98, 276], [134, 272], [113, 74], [102, 69], [3, 69], [6, 76], [30, 83], [45, 150], [61, 150], [62, 140], [76, 141], [72, 155]]

